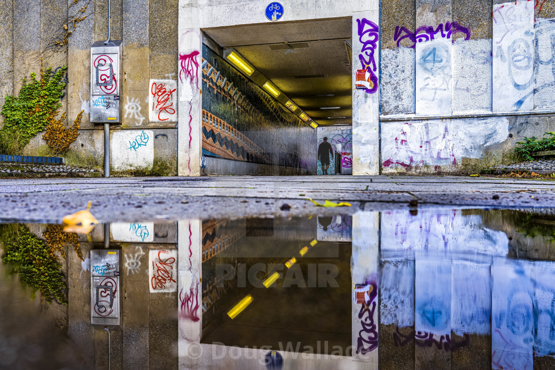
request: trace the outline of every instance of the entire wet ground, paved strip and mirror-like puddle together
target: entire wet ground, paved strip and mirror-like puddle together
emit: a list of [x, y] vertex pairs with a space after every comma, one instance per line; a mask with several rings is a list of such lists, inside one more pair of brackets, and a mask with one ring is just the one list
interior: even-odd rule
[[550, 181], [311, 180], [3, 181], [0, 368], [555, 368]]

